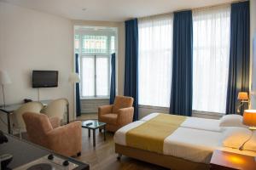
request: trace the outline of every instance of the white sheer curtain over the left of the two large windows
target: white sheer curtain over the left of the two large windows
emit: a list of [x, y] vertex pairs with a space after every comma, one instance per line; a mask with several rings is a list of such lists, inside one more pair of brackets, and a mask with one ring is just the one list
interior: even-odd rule
[[138, 20], [139, 105], [170, 105], [172, 20], [172, 14]]

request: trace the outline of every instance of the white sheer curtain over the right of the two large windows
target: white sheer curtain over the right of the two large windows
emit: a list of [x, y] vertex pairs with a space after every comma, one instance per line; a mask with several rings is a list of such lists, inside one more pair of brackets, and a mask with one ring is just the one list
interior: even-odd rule
[[193, 110], [225, 112], [230, 5], [193, 11]]

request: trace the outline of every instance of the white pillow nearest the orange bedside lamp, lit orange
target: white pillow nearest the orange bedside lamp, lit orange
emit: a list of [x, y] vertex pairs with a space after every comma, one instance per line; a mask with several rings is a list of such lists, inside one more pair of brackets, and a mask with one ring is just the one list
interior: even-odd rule
[[244, 127], [226, 127], [222, 144], [224, 147], [236, 148], [252, 136], [252, 131]]

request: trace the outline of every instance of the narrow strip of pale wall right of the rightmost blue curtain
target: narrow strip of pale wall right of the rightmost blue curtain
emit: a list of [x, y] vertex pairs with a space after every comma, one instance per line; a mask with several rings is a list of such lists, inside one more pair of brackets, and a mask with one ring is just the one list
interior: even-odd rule
[[[252, 98], [252, 109], [256, 109], [256, 51], [253, 52], [253, 35], [256, 38], [256, 0], [250, 1], [250, 19], [251, 19], [251, 63], [252, 63], [252, 76], [251, 76], [251, 98]], [[256, 50], [256, 49], [255, 49]], [[254, 58], [253, 58], [253, 53]]]

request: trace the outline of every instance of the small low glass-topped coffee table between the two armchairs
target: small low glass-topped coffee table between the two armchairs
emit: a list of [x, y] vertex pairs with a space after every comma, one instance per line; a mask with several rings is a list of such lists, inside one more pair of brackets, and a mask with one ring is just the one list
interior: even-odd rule
[[88, 120], [82, 122], [82, 127], [88, 129], [88, 136], [90, 138], [90, 130], [93, 132], [93, 147], [96, 146], [96, 129], [103, 127], [104, 129], [104, 140], [106, 140], [106, 123], [105, 122], [98, 122], [98, 120]]

